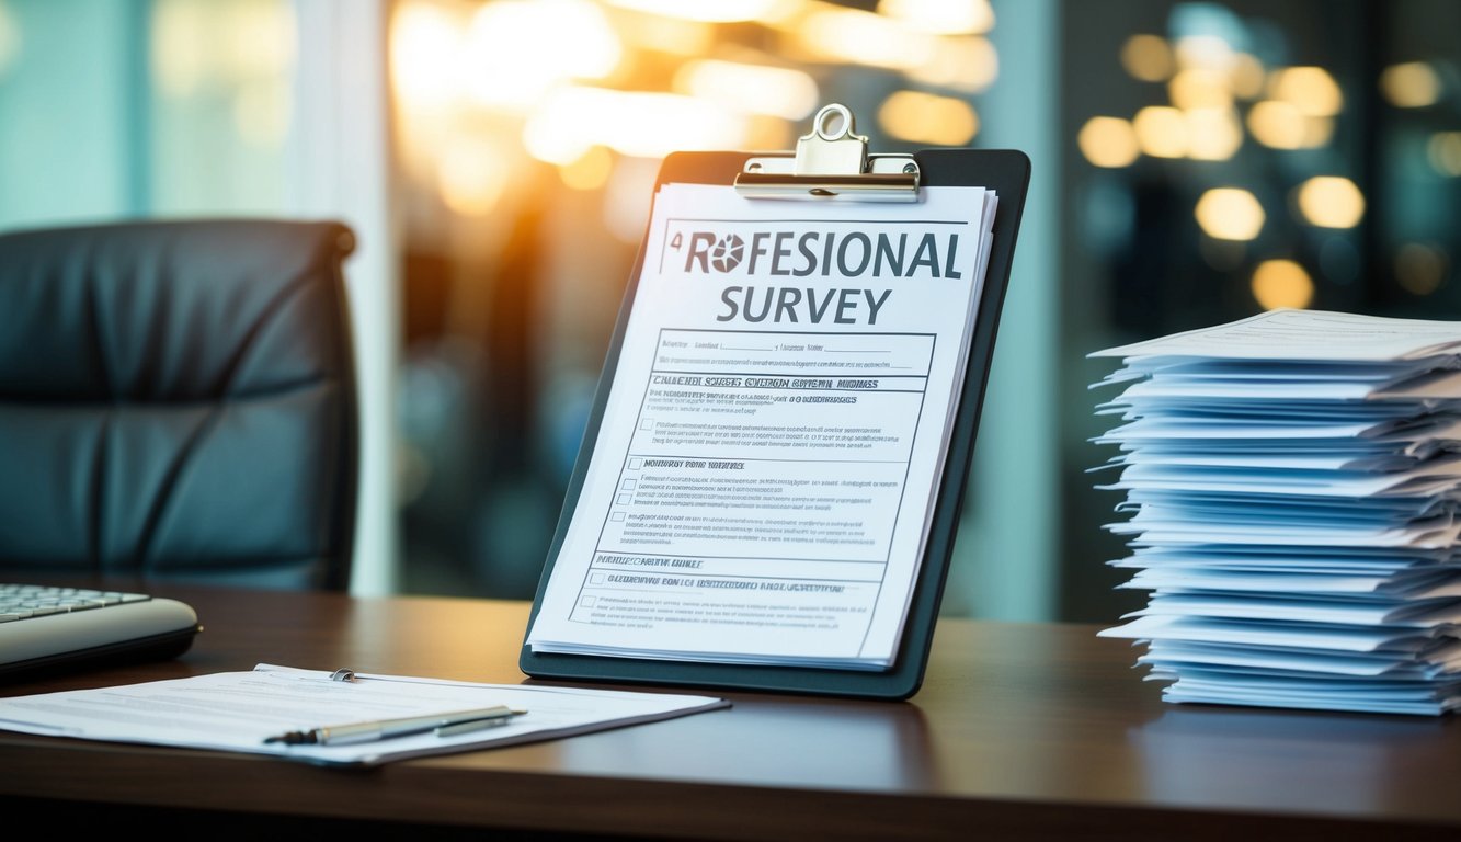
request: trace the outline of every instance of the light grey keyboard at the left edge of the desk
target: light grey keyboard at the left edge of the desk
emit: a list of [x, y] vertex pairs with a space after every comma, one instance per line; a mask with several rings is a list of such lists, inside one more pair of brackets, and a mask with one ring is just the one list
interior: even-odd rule
[[175, 658], [202, 630], [177, 599], [0, 583], [0, 680]]

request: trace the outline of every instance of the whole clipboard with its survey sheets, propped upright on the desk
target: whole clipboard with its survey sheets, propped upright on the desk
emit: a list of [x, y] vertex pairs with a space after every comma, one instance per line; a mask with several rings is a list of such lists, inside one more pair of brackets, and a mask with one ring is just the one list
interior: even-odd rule
[[[1030, 162], [866, 146], [852, 113], [828, 105], [793, 152], [662, 162], [529, 618], [526, 674], [916, 693]], [[904, 368], [866, 364], [888, 354]], [[828, 424], [865, 427], [888, 459], [839, 459], [817, 439]], [[782, 436], [770, 452], [735, 444], [767, 436]], [[820, 503], [796, 490], [804, 479], [850, 487], [859, 471], [893, 474], [878, 493], [824, 494], [831, 515], [806, 510]], [[747, 491], [761, 481], [783, 494]], [[771, 512], [798, 507], [808, 536]], [[828, 538], [846, 525], [855, 550]]]

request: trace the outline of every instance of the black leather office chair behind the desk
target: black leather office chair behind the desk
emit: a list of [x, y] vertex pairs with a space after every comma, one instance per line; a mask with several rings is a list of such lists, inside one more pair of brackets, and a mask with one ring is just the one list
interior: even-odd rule
[[0, 234], [0, 580], [349, 586], [337, 222]]

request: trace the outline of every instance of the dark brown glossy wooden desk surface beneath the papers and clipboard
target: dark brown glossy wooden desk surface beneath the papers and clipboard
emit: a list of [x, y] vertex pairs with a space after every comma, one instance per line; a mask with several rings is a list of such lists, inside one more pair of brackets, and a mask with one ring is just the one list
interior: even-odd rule
[[[520, 602], [148, 589], [203, 621], [180, 659], [0, 694], [257, 662], [524, 678]], [[463, 839], [1461, 838], [1455, 721], [1167, 705], [1097, 629], [944, 620], [909, 702], [726, 693], [729, 710], [373, 770], [0, 732], [0, 813], [60, 800], [63, 824], [161, 814], [207, 838], [323, 822]]]

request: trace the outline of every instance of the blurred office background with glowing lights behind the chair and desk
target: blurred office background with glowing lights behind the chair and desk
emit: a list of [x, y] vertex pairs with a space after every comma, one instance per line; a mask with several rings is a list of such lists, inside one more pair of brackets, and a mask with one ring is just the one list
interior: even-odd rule
[[942, 611], [1109, 623], [1096, 349], [1274, 307], [1461, 317], [1454, 0], [0, 0], [0, 230], [333, 218], [351, 589], [532, 598], [659, 159], [1031, 159]]

